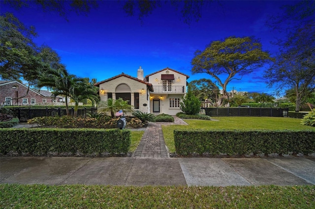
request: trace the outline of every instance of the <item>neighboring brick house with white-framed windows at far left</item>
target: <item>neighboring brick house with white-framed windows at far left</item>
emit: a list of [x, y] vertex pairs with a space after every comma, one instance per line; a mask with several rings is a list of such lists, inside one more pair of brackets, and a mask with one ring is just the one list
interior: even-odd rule
[[49, 91], [40, 90], [38, 92], [30, 88], [29, 93], [27, 94], [27, 90], [28, 87], [18, 81], [0, 80], [0, 104], [45, 105], [47, 103], [55, 102]]

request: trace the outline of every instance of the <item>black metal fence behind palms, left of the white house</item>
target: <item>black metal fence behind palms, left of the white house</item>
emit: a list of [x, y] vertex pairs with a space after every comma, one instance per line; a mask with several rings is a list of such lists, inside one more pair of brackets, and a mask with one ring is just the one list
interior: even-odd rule
[[[20, 122], [27, 122], [35, 117], [42, 116], [63, 116], [67, 115], [65, 108], [14, 108], [11, 109], [14, 117], [18, 117]], [[96, 107], [84, 107], [78, 109], [78, 116], [87, 116], [97, 112]], [[74, 114], [74, 108], [69, 108], [70, 115]]]

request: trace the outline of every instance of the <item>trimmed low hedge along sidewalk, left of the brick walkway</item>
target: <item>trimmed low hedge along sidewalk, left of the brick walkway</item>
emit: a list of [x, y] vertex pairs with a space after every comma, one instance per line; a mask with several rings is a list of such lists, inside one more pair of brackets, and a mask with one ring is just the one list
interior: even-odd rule
[[0, 155], [96, 155], [127, 153], [128, 130], [99, 129], [0, 129]]

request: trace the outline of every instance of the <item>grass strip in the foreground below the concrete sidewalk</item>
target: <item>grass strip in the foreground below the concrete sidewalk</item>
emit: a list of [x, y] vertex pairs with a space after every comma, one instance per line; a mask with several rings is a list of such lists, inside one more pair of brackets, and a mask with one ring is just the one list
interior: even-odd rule
[[0, 184], [1, 209], [313, 209], [308, 186], [104, 186]]

